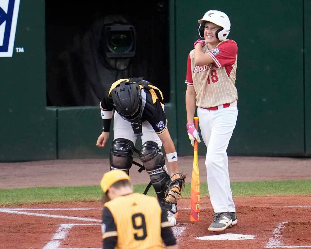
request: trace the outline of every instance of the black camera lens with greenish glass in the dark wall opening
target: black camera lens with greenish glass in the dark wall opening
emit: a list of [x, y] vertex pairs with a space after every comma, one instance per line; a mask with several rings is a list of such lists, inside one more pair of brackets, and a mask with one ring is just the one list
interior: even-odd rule
[[108, 36], [111, 52], [123, 53], [132, 48], [132, 35], [128, 31], [112, 31]]

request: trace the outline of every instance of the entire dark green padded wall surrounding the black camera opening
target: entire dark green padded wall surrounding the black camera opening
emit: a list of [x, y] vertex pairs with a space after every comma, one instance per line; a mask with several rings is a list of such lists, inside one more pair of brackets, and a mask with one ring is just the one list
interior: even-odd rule
[[[238, 44], [239, 116], [229, 155], [310, 157], [311, 3], [302, 0], [169, 2], [166, 113], [179, 155], [192, 155], [186, 62], [198, 39], [197, 20], [209, 9], [228, 14], [229, 38]], [[21, 0], [13, 55], [0, 57], [0, 161], [107, 157], [110, 146], [95, 146], [101, 133], [97, 106], [47, 107], [44, 13], [44, 1]], [[203, 143], [199, 153], [205, 153]]]

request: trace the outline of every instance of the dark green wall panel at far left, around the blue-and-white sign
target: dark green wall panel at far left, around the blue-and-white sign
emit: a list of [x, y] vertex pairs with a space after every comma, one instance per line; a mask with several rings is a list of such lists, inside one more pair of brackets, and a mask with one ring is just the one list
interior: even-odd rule
[[0, 57], [2, 162], [56, 159], [56, 112], [46, 108], [44, 22], [44, 1], [22, 0], [13, 56]]

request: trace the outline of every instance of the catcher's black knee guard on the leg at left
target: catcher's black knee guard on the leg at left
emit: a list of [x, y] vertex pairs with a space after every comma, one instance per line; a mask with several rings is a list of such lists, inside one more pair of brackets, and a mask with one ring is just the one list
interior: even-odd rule
[[128, 139], [114, 139], [110, 148], [110, 170], [119, 169], [128, 174], [133, 163], [134, 143]]

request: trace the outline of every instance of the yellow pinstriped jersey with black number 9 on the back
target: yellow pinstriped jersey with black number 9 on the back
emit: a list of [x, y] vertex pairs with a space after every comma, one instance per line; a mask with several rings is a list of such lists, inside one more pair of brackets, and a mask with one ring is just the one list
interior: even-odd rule
[[117, 236], [116, 248], [163, 248], [161, 228], [170, 225], [155, 197], [139, 193], [119, 196], [105, 203], [105, 208], [103, 239]]

